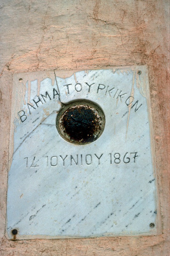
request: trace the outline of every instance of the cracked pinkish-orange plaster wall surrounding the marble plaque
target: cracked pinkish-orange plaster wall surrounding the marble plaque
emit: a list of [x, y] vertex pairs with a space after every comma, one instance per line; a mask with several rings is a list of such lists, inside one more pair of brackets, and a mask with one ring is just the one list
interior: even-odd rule
[[[169, 1], [2, 0], [0, 255], [169, 256]], [[4, 236], [11, 80], [15, 72], [148, 65], [162, 234], [10, 241]]]

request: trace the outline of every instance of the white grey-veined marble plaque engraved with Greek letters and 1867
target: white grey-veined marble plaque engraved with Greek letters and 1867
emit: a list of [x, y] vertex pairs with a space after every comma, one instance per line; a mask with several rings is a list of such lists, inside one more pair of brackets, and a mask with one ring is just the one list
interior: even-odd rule
[[158, 234], [149, 100], [146, 66], [15, 74], [8, 238]]

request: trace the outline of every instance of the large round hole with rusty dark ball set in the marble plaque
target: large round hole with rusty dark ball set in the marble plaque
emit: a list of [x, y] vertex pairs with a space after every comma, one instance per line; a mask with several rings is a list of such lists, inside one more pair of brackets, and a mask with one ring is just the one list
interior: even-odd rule
[[78, 100], [65, 105], [56, 119], [56, 128], [61, 137], [78, 145], [97, 140], [104, 127], [105, 115], [91, 101]]

